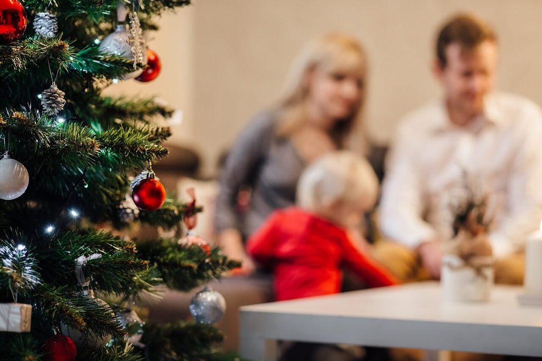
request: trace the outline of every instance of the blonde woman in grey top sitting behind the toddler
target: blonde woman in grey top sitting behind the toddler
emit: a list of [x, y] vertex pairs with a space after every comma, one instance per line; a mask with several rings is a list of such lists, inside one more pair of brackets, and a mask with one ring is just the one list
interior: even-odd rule
[[[293, 64], [278, 106], [257, 115], [231, 149], [221, 176], [215, 226], [223, 252], [241, 260], [238, 273], [254, 271], [243, 240], [275, 209], [292, 206], [302, 170], [337, 149], [363, 152], [360, 113], [366, 58], [348, 35], [328, 34], [307, 44]], [[251, 189], [244, 214], [240, 189]]]

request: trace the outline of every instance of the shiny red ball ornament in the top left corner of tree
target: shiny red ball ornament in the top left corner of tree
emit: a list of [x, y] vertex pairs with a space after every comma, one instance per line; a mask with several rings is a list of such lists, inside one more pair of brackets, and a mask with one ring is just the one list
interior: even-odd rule
[[0, 45], [16, 41], [27, 28], [27, 12], [17, 0], [0, 0]]

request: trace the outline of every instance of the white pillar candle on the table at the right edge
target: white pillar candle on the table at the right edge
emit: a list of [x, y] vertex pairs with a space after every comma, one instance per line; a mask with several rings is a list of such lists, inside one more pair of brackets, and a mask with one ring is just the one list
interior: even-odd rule
[[540, 231], [527, 239], [524, 286], [526, 294], [542, 296], [542, 222]]

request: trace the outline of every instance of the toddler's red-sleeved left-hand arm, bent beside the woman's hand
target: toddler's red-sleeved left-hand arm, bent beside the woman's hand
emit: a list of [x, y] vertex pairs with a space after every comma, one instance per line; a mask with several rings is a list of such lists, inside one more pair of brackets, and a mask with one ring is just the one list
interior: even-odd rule
[[280, 220], [280, 212], [272, 213], [247, 241], [247, 253], [262, 264], [267, 264], [275, 256]]

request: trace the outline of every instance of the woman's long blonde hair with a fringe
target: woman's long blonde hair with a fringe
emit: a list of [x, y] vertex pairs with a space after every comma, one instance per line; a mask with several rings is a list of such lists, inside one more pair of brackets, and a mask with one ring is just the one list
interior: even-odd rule
[[[276, 135], [288, 137], [306, 122], [304, 107], [309, 91], [307, 78], [314, 70], [325, 73], [356, 72], [362, 81], [362, 95], [358, 107], [350, 117], [335, 123], [330, 134], [339, 148], [351, 148], [347, 144], [350, 141], [348, 137], [354, 130], [358, 130], [354, 128], [360, 122], [360, 110], [365, 101], [366, 57], [362, 45], [352, 36], [345, 34], [320, 36], [309, 42], [296, 57], [279, 102], [282, 116], [276, 128]], [[364, 139], [358, 137], [356, 142], [360, 141], [364, 142]]]

